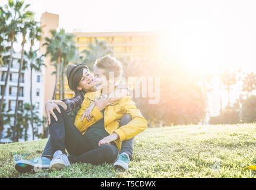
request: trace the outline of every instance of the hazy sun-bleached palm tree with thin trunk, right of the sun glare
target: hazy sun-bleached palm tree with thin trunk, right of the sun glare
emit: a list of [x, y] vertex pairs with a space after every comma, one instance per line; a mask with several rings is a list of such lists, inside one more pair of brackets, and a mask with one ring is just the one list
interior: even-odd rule
[[229, 72], [227, 69], [225, 69], [224, 72], [220, 75], [220, 80], [222, 81], [222, 84], [226, 85], [227, 88], [227, 100], [228, 100], [228, 106], [230, 107], [230, 100], [229, 100], [229, 94], [230, 94], [230, 86], [233, 84], [236, 84], [236, 74], [235, 72]]

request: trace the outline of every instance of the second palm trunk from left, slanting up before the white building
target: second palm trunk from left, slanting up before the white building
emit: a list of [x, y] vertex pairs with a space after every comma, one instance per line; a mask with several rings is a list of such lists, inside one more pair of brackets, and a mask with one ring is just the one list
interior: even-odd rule
[[20, 76], [21, 76], [21, 69], [23, 68], [23, 56], [24, 56], [24, 44], [26, 42], [25, 36], [23, 36], [22, 42], [22, 50], [21, 50], [21, 58], [20, 58], [20, 68], [18, 69], [18, 84], [17, 84], [17, 95], [16, 95], [16, 103], [15, 103], [15, 113], [14, 113], [14, 133], [13, 133], [13, 140], [14, 142], [18, 142], [18, 135], [16, 134], [17, 129], [17, 113], [18, 113], [18, 97], [20, 95]]

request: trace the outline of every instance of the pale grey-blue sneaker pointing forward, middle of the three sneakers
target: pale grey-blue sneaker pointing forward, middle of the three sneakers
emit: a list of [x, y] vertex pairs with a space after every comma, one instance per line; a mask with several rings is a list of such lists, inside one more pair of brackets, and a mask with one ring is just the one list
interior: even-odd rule
[[64, 167], [70, 166], [70, 162], [66, 154], [63, 154], [62, 151], [57, 150], [53, 154], [52, 161], [50, 161], [50, 169], [60, 170]]

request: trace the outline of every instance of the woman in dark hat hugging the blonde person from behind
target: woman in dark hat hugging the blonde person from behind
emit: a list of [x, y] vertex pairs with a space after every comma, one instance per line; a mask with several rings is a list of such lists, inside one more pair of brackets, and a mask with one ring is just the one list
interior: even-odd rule
[[[72, 70], [72, 72], [71, 72]], [[72, 76], [71, 76], [72, 73]], [[49, 100], [48, 103], [46, 103], [46, 119], [48, 124], [50, 125], [51, 121], [59, 121], [65, 118], [66, 125], [72, 125], [71, 118], [67, 115], [67, 113], [70, 113], [72, 110], [75, 110], [77, 107], [81, 105], [81, 102], [83, 102], [84, 94], [86, 92], [94, 91], [94, 81], [93, 76], [89, 72], [89, 68], [87, 68], [86, 65], [69, 65], [67, 69], [67, 78], [68, 78], [68, 84], [71, 90], [75, 91], [75, 96], [72, 99], [64, 99], [64, 100]], [[116, 87], [118, 89], [118, 87]], [[110, 101], [112, 102], [112, 101]], [[100, 99], [95, 102], [95, 105], [108, 105], [108, 101], [106, 99]], [[61, 110], [62, 109], [62, 110]], [[54, 110], [54, 111], [53, 111]], [[67, 110], [67, 112], [66, 112]], [[61, 114], [58, 115], [58, 117], [55, 114]], [[63, 114], [63, 115], [62, 115]], [[83, 121], [82, 116], [81, 120]], [[53, 119], [54, 118], [54, 119]], [[125, 125], [131, 120], [131, 117], [129, 115], [125, 115], [121, 118], [120, 125]], [[68, 121], [68, 122], [67, 122]], [[64, 125], [64, 122], [62, 122], [62, 125]], [[73, 124], [74, 128], [74, 124]], [[63, 135], [63, 134], [62, 134]], [[72, 140], [72, 139], [71, 139]], [[133, 140], [134, 138], [131, 138], [130, 140], [123, 141], [121, 151], [127, 152], [129, 156], [132, 157], [132, 148], [133, 148]], [[43, 151], [42, 157], [37, 157], [32, 160], [20, 160], [15, 163], [15, 169], [17, 169], [19, 172], [30, 172], [31, 170], [34, 170], [34, 167], [39, 168], [49, 168], [50, 167], [50, 159], [52, 159], [53, 156], [53, 146], [52, 146], [52, 140], [51, 137], [48, 139], [48, 143], [46, 144], [45, 150]], [[121, 156], [121, 155], [119, 155]], [[124, 161], [124, 157], [122, 161]], [[118, 160], [120, 161], [119, 157]], [[117, 160], [117, 162], [118, 162]], [[123, 162], [124, 163], [124, 162]], [[128, 162], [129, 163], [129, 162]], [[124, 164], [123, 164], [124, 165]], [[118, 164], [116, 164], [118, 166]], [[121, 166], [123, 167], [123, 166]]]

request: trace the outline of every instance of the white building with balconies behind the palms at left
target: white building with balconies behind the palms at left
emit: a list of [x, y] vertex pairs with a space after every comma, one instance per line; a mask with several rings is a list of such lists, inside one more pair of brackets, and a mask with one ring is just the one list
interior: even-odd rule
[[[18, 59], [20, 58], [20, 53], [14, 54], [14, 59], [12, 61], [12, 65], [10, 68], [10, 75], [8, 78], [7, 88], [5, 90], [4, 101], [6, 103], [5, 110], [8, 108], [12, 109], [10, 113], [14, 113], [15, 110], [15, 100], [17, 95], [17, 82], [18, 82], [18, 69], [19, 63]], [[36, 72], [33, 70], [32, 80], [32, 101], [33, 105], [36, 106], [36, 110], [39, 112], [40, 119], [43, 118], [43, 97], [44, 97], [44, 88], [43, 88], [43, 66], [42, 72]], [[5, 85], [5, 77], [6, 77], [7, 67], [0, 67], [0, 98], [2, 97], [2, 88]], [[20, 83], [20, 96], [18, 97], [19, 103], [29, 103], [30, 104], [30, 68], [26, 69], [26, 71], [21, 71], [21, 83]], [[14, 124], [14, 118], [11, 119], [11, 124]], [[35, 125], [35, 124], [34, 124]], [[10, 128], [10, 125], [4, 125], [4, 131], [0, 137], [0, 143], [11, 142], [10, 139], [5, 138], [7, 135], [7, 129]], [[39, 134], [43, 132], [43, 126], [38, 128]], [[28, 130], [29, 139], [32, 140], [32, 129], [29, 126]], [[36, 137], [35, 137], [36, 138]], [[24, 141], [20, 139], [19, 141]]]

